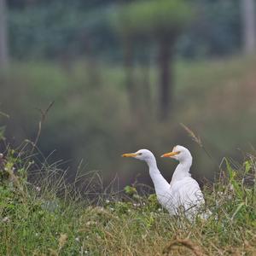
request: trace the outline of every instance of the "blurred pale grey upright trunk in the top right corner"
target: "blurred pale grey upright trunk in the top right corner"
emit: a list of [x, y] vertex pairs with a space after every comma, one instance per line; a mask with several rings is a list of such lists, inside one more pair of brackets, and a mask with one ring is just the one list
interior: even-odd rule
[[246, 54], [256, 49], [256, 18], [254, 0], [241, 0], [241, 18], [243, 25], [243, 43]]

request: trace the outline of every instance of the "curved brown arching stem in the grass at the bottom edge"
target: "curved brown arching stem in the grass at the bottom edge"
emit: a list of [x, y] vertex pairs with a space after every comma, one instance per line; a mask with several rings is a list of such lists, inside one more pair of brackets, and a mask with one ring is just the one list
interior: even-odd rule
[[192, 241], [189, 239], [175, 239], [171, 241], [163, 250], [163, 254], [168, 255], [168, 253], [171, 253], [172, 247], [175, 246], [183, 246], [189, 248], [193, 253], [195, 253], [196, 256], [204, 256], [205, 253], [202, 252], [201, 247], [195, 245]]

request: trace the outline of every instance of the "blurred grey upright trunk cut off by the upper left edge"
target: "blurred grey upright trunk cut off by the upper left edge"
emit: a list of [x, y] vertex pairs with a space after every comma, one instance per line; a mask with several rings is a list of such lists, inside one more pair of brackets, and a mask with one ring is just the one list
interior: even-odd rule
[[9, 62], [6, 13], [5, 0], [0, 0], [0, 67], [7, 67]]

